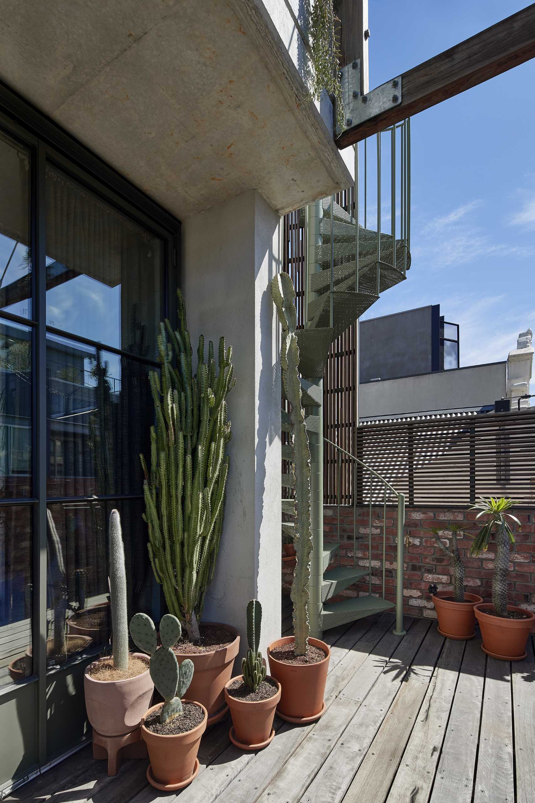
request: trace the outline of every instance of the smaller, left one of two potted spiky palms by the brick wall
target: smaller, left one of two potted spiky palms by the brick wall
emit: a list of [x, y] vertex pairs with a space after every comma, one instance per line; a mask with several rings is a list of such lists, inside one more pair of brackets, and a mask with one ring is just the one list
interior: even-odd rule
[[[443, 539], [444, 530], [451, 533], [449, 545]], [[463, 529], [459, 524], [451, 522], [445, 528], [431, 527], [431, 532], [435, 536], [439, 547], [446, 552], [451, 560], [451, 582], [453, 585], [452, 590], [434, 590], [434, 593], [431, 594], [436, 615], [439, 619], [439, 633], [447, 638], [454, 638], [459, 641], [474, 638], [476, 634], [474, 630], [476, 626], [474, 605], [478, 602], [483, 602], [483, 597], [464, 590], [464, 565], [459, 555], [459, 545], [457, 544], [457, 538], [459, 535], [463, 535]]]

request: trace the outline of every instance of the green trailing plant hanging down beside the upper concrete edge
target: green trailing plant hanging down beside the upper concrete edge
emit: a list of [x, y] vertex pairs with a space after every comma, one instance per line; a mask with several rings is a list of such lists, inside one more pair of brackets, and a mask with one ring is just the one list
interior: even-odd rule
[[333, 9], [333, 0], [307, 0], [308, 39], [312, 61], [312, 96], [320, 100], [325, 89], [336, 100], [337, 127], [345, 129], [345, 108], [338, 79], [340, 47], [337, 32], [340, 20]]

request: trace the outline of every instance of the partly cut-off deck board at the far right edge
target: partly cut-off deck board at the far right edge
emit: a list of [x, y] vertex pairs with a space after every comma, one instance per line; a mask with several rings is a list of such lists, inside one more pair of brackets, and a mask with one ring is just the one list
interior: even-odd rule
[[528, 639], [524, 661], [513, 663], [513, 719], [517, 768], [517, 803], [535, 801], [535, 661], [533, 641]]

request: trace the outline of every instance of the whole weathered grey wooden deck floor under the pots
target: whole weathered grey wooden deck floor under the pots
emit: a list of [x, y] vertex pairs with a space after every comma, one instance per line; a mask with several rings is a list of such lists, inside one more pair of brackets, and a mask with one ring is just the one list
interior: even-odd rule
[[[286, 603], [284, 603], [286, 605]], [[283, 610], [283, 630], [291, 623]], [[201, 771], [178, 796], [147, 784], [145, 761], [115, 778], [91, 748], [22, 787], [10, 801], [51, 803], [533, 803], [535, 663], [488, 658], [480, 639], [452, 642], [436, 622], [407, 619], [392, 634], [384, 613], [329, 630], [332, 657], [319, 722], [276, 719], [259, 753], [227, 738], [229, 720], [206, 732]]]

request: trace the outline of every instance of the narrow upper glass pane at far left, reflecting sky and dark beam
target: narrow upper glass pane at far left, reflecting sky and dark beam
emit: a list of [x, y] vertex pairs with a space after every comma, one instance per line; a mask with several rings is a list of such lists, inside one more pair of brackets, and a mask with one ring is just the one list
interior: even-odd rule
[[0, 309], [31, 317], [30, 153], [2, 132]]

